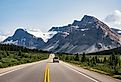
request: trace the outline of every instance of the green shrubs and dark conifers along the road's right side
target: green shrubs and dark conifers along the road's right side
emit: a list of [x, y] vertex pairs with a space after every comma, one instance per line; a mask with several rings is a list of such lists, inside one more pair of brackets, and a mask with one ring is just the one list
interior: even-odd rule
[[60, 60], [121, 79], [121, 55], [57, 54]]

